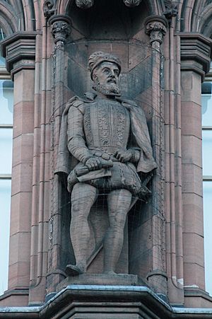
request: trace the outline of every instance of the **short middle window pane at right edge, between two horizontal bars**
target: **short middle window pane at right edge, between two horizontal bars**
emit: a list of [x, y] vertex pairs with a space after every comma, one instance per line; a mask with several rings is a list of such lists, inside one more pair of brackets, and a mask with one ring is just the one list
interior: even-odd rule
[[202, 132], [203, 175], [212, 175], [212, 131]]

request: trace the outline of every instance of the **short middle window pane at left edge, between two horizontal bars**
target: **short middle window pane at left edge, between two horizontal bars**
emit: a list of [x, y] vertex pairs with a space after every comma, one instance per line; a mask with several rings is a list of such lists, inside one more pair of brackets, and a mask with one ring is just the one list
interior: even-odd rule
[[11, 174], [13, 129], [0, 129], [0, 174]]

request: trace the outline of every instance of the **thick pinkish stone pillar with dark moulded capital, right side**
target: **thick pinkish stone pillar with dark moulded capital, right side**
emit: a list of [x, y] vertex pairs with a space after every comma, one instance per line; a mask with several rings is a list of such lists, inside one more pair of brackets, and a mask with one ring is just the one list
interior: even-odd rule
[[[182, 204], [185, 306], [204, 307], [205, 289], [201, 160], [201, 81], [211, 62], [211, 39], [179, 33], [182, 89]], [[201, 294], [199, 293], [201, 291]]]

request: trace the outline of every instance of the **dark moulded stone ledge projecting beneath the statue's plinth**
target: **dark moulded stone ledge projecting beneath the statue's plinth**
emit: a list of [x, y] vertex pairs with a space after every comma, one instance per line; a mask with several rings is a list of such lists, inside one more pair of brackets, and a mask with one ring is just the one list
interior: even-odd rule
[[146, 286], [70, 285], [40, 307], [0, 308], [0, 318], [211, 319], [212, 308], [171, 307]]

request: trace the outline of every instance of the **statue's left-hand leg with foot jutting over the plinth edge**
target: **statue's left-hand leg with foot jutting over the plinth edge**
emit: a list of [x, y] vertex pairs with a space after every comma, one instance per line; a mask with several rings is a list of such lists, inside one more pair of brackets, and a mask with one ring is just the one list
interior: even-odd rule
[[98, 190], [86, 183], [78, 182], [71, 192], [71, 226], [70, 236], [76, 265], [67, 265], [66, 273], [69, 276], [83, 274], [86, 271], [86, 259], [88, 255], [88, 241], [90, 229], [88, 215], [93, 206]]

